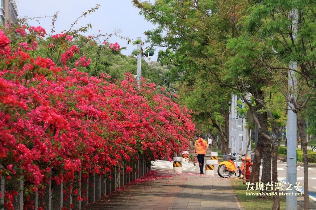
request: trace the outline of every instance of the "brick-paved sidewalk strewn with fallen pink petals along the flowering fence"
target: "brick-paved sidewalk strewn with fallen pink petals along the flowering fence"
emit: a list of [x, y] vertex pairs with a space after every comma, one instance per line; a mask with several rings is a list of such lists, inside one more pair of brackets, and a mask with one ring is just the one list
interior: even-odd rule
[[151, 170], [137, 183], [84, 208], [94, 209], [242, 209], [230, 182], [218, 176]]

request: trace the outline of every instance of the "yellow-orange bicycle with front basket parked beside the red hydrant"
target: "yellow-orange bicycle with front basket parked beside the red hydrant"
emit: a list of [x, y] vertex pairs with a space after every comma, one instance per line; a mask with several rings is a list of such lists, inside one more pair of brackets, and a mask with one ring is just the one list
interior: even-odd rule
[[[242, 155], [242, 156], [246, 156], [246, 155]], [[223, 161], [223, 162], [218, 163], [218, 169], [217, 169], [218, 175], [223, 178], [231, 177], [233, 174], [236, 175], [236, 165], [234, 162], [234, 160], [236, 160], [236, 153], [223, 154], [223, 159], [228, 160], [228, 161]], [[240, 177], [241, 172], [244, 171], [244, 167], [245, 167], [245, 158], [243, 158], [241, 166], [237, 167], [239, 168], [238, 177]]]

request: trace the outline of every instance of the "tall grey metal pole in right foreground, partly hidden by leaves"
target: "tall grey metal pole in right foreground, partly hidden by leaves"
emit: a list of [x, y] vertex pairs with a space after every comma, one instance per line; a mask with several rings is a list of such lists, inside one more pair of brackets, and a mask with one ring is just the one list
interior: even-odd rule
[[[296, 38], [297, 32], [297, 11], [291, 11], [289, 18], [293, 19], [293, 39]], [[290, 69], [297, 69], [297, 63], [292, 62]], [[295, 72], [289, 70], [289, 99], [295, 99], [295, 87], [297, 84]], [[296, 183], [296, 114], [292, 111], [293, 105], [288, 102], [288, 126], [287, 126], [287, 150], [286, 150], [286, 181], [292, 184], [287, 191], [286, 196], [286, 210], [297, 209], [297, 196], [294, 184]], [[293, 193], [293, 195], [292, 195]]]

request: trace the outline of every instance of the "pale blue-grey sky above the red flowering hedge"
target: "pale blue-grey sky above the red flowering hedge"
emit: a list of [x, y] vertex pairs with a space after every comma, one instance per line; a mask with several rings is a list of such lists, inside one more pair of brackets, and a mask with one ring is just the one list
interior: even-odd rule
[[[151, 22], [147, 22], [143, 16], [140, 16], [139, 9], [135, 8], [131, 0], [15, 0], [18, 7], [18, 16], [23, 18], [53, 16], [59, 11], [57, 21], [55, 23], [55, 33], [68, 31], [71, 24], [88, 9], [94, 8], [100, 4], [100, 8], [94, 13], [87, 15], [79, 21], [74, 29], [80, 26], [86, 26], [89, 22], [92, 25], [92, 30], [85, 33], [86, 36], [98, 33], [112, 33], [116, 29], [122, 32], [119, 34], [123, 37], [129, 37], [132, 41], [141, 37], [146, 39], [144, 31], [155, 28]], [[52, 18], [37, 18], [29, 20], [31, 26], [42, 26], [46, 29], [47, 34], [50, 34]], [[99, 32], [100, 30], [100, 32]], [[110, 43], [118, 42], [121, 47], [126, 47], [121, 53], [130, 55], [133, 49], [137, 46], [131, 43], [127, 45], [127, 41], [119, 37], [109, 38]], [[143, 48], [149, 46], [145, 43]], [[158, 50], [156, 50], [151, 60], [157, 59]]]

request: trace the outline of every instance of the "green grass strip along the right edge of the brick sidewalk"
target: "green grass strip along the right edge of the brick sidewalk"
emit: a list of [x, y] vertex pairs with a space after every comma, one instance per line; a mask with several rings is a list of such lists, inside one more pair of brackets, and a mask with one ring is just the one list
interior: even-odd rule
[[[249, 192], [259, 192], [246, 190], [246, 185], [242, 184], [242, 179], [229, 179], [234, 193], [238, 196], [241, 205], [245, 210], [271, 210], [272, 209], [272, 199], [270, 200], [258, 198], [258, 196], [246, 196]], [[272, 191], [271, 191], [272, 192]], [[286, 209], [286, 200], [280, 197], [280, 209]]]

